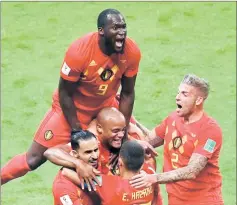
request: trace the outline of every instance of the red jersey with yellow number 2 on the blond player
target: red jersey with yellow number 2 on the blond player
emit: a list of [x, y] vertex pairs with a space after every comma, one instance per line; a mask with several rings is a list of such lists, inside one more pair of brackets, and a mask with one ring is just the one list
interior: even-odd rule
[[222, 131], [217, 122], [204, 113], [199, 121], [184, 124], [183, 118], [174, 112], [155, 131], [164, 139], [164, 172], [187, 166], [193, 153], [208, 158], [196, 179], [166, 184], [169, 204], [222, 205], [222, 177], [218, 165]]

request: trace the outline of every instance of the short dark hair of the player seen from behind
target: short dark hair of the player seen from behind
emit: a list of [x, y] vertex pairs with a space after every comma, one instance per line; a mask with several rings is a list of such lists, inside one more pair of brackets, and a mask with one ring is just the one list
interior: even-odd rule
[[136, 140], [128, 140], [122, 144], [119, 153], [125, 167], [129, 171], [139, 171], [144, 163], [145, 151]]

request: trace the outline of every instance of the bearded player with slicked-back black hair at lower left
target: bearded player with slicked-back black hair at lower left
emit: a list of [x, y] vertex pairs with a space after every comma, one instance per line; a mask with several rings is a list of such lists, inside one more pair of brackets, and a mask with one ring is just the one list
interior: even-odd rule
[[[82, 135], [80, 132], [75, 132], [71, 137], [71, 146], [70, 155], [72, 157], [79, 158], [95, 169], [100, 169], [98, 164], [98, 140], [93, 133], [84, 131]], [[62, 172], [63, 170], [61, 169], [53, 183], [54, 204], [93, 205], [94, 198], [89, 198], [78, 186], [64, 177]]]

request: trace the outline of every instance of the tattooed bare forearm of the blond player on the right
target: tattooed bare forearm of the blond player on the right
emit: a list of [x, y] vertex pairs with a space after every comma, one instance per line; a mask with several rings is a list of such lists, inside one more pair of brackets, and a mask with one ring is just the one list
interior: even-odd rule
[[203, 155], [194, 153], [186, 167], [178, 168], [169, 172], [157, 174], [157, 182], [160, 184], [195, 179], [207, 164], [207, 158]]

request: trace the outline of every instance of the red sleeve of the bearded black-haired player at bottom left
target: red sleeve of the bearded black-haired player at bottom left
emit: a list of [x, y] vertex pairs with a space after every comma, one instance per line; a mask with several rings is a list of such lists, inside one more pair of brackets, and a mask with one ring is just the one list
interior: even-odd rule
[[78, 189], [66, 179], [60, 179], [53, 184], [53, 196], [56, 205], [76, 204], [81, 205]]

